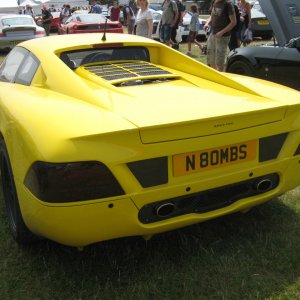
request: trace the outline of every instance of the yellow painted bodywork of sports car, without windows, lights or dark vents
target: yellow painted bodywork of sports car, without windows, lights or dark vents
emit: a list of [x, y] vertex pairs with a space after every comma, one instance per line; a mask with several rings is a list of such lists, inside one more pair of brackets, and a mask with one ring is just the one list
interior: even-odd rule
[[[216, 72], [149, 39], [111, 34], [103, 42], [101, 37], [83, 34], [24, 42], [20, 46], [40, 61], [31, 85], [0, 82], [0, 130], [22, 216], [33, 233], [72, 246], [147, 236], [248, 209], [299, 184], [299, 92]], [[149, 64], [169, 72], [171, 79], [122, 87], [84, 66], [72, 70], [59, 58], [65, 51], [107, 44], [146, 47]], [[268, 145], [266, 138], [281, 135], [284, 141], [277, 155], [264, 159], [273, 148], [273, 140]], [[228, 149], [234, 147], [247, 151], [247, 159], [241, 154], [234, 163], [226, 160]], [[220, 153], [226, 160], [222, 166]], [[197, 166], [189, 172], [184, 164], [193, 155]], [[210, 157], [208, 168], [201, 166], [201, 155]], [[167, 181], [143, 185], [130, 164], [161, 157], [166, 158]], [[101, 162], [124, 194], [65, 203], [43, 201], [24, 184], [37, 161]], [[224, 207], [149, 223], [141, 217], [148, 205], [267, 174], [277, 174], [274, 188]]]

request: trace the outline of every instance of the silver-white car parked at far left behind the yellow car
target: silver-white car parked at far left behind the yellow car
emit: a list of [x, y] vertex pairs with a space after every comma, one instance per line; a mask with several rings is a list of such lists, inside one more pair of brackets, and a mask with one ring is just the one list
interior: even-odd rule
[[0, 50], [11, 50], [16, 44], [45, 36], [44, 28], [31, 16], [0, 14]]

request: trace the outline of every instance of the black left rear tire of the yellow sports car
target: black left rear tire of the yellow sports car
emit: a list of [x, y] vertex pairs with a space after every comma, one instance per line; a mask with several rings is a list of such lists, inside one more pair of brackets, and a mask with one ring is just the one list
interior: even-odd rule
[[37, 240], [37, 237], [29, 231], [23, 221], [14, 176], [3, 139], [0, 139], [0, 170], [5, 209], [11, 234], [19, 244], [31, 243]]

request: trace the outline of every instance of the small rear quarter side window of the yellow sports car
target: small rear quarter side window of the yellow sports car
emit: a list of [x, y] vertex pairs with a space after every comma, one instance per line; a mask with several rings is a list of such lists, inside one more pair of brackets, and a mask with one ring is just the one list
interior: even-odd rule
[[20, 70], [16, 76], [15, 82], [25, 85], [30, 85], [32, 78], [39, 67], [38, 59], [33, 55], [29, 54], [21, 65]]

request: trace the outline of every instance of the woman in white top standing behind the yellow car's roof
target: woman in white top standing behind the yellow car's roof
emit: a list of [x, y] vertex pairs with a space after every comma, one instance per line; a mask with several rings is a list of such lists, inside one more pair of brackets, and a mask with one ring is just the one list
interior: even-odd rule
[[137, 0], [137, 4], [140, 7], [135, 24], [136, 35], [141, 35], [151, 39], [153, 30], [153, 15], [148, 8], [148, 0]]

